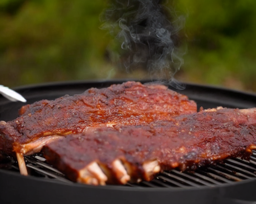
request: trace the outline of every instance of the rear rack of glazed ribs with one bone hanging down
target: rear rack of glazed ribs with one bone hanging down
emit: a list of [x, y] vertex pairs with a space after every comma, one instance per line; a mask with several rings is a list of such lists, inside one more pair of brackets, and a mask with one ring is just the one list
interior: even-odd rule
[[20, 116], [0, 121], [0, 155], [16, 154], [26, 175], [23, 155], [40, 152], [46, 143], [68, 134], [100, 127], [143, 125], [195, 113], [196, 103], [164, 85], [128, 81], [83, 94], [42, 100], [23, 106]]

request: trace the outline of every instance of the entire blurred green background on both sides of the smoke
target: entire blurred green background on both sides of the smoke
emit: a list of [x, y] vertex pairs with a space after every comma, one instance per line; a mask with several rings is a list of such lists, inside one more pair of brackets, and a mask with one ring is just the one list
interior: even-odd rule
[[[111, 61], [113, 37], [99, 27], [106, 0], [0, 0], [0, 84], [135, 78]], [[186, 16], [183, 82], [256, 91], [256, 1], [167, 2]]]

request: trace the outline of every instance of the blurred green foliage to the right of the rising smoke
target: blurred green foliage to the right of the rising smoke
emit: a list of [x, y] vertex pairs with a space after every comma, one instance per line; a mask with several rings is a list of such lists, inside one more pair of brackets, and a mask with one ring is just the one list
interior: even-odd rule
[[188, 11], [181, 78], [256, 91], [256, 1], [181, 2]]

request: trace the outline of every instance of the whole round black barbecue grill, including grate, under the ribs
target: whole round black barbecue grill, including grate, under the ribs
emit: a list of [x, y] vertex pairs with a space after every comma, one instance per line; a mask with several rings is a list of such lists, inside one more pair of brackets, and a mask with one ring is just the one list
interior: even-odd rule
[[[142, 81], [146, 83], [149, 81]], [[123, 81], [76, 81], [23, 86], [15, 89], [27, 103], [53, 100], [65, 94], [81, 94], [91, 87], [107, 87]], [[256, 95], [217, 87], [186, 84], [176, 90], [197, 102], [198, 108], [256, 107]], [[21, 102], [0, 97], [0, 120], [15, 119]], [[0, 203], [179, 203], [179, 204], [249, 204], [256, 203], [256, 152], [249, 160], [227, 159], [222, 163], [199, 167], [190, 172], [164, 171], [153, 181], [128, 183], [126, 186], [88, 186], [73, 183], [52, 168], [41, 154], [26, 156], [30, 176], [19, 174], [16, 160], [6, 158], [0, 169]], [[3, 166], [3, 165], [2, 165]]]

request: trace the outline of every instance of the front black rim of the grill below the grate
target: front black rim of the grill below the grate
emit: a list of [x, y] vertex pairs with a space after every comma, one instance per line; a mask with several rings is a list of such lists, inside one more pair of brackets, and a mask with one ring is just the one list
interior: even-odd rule
[[[2, 174], [2, 172], [4, 174]], [[15, 186], [9, 185], [15, 180]], [[250, 202], [256, 200], [256, 180], [244, 180], [226, 183], [215, 187], [198, 188], [132, 188], [126, 186], [87, 186], [78, 183], [68, 184], [39, 177], [25, 177], [15, 172], [0, 169], [0, 201], [1, 203], [162, 203], [170, 204], [219, 204], [223, 200], [229, 204], [236, 201]], [[25, 183], [26, 182], [26, 183]], [[36, 184], [35, 184], [36, 182]], [[8, 188], [9, 187], [9, 188]], [[26, 187], [26, 188], [24, 188]], [[12, 188], [12, 191], [9, 189]], [[58, 189], [55, 191], [55, 189]], [[14, 197], [14, 194], [15, 197]], [[43, 192], [38, 194], [38, 192]], [[239, 192], [239, 193], [237, 193]], [[98, 198], [99, 195], [102, 198]], [[62, 197], [60, 197], [62, 196]], [[97, 197], [98, 196], [98, 197]], [[87, 199], [84, 202], [84, 199]], [[2, 199], [2, 200], [1, 200]], [[35, 202], [36, 201], [36, 202]]]

